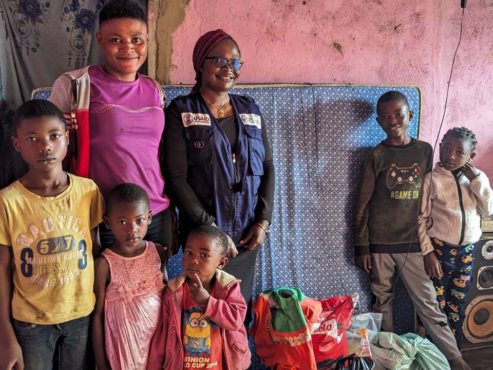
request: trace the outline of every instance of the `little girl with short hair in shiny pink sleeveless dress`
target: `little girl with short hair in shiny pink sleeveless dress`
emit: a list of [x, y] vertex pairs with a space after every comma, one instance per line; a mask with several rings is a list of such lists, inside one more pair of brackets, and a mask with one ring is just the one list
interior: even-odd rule
[[124, 183], [106, 197], [104, 222], [115, 235], [94, 262], [92, 342], [98, 370], [145, 369], [159, 321], [166, 251], [143, 240], [151, 223], [143, 188]]

